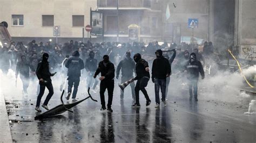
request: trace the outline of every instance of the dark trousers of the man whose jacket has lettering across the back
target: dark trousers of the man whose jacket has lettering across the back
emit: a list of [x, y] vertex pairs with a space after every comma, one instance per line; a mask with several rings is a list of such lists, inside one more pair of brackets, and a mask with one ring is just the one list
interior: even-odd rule
[[74, 85], [74, 89], [73, 89], [73, 94], [72, 94], [72, 98], [76, 98], [77, 96], [77, 91], [78, 91], [78, 86], [79, 86], [79, 82], [80, 82], [80, 77], [69, 77], [68, 78], [68, 93], [72, 92], [72, 87]]

